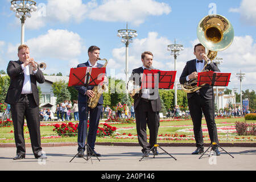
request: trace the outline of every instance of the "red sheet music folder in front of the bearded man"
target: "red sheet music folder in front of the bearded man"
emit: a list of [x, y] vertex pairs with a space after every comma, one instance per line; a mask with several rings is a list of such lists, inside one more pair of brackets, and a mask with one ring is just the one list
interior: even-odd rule
[[[144, 69], [142, 75], [142, 89], [155, 88], [172, 89], [174, 88], [176, 71], [160, 71], [158, 69]], [[158, 80], [157, 80], [158, 79]], [[158, 85], [155, 85], [158, 84]]]

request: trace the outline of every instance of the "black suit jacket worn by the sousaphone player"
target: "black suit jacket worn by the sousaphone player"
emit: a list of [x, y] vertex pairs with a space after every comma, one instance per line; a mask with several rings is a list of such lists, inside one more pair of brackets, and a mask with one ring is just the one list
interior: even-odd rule
[[[205, 61], [206, 63], [206, 61]], [[216, 63], [211, 62], [210, 64], [207, 65], [206, 69], [208, 69], [209, 71], [213, 71], [213, 72], [220, 72], [220, 69], [218, 69]], [[187, 82], [186, 77], [188, 75], [190, 75], [191, 73], [196, 72], [196, 59], [187, 61], [183, 72], [180, 75], [180, 84], [184, 84], [185, 82]], [[206, 98], [207, 100], [210, 100], [213, 98], [212, 96], [212, 86], [205, 86], [201, 89], [199, 89], [200, 94]], [[193, 93], [188, 93], [187, 97], [188, 99], [191, 98], [196, 92]]]

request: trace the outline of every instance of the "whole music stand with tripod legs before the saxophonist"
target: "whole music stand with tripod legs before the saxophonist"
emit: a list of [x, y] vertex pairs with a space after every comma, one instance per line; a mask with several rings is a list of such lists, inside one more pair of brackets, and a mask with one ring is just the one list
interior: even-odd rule
[[[88, 86], [101, 85], [104, 81], [105, 72], [106, 72], [106, 68], [91, 68], [91, 67], [71, 68], [71, 71], [69, 74], [68, 86], [84, 86], [85, 89], [87, 90]], [[86, 109], [86, 144], [85, 144], [86, 159], [84, 157], [82, 158], [84, 158], [85, 160], [91, 159], [92, 161], [92, 155], [95, 155], [97, 159], [98, 159], [98, 156], [94, 153], [92, 148], [90, 148], [87, 142], [88, 141], [87, 122], [88, 122], [88, 114], [89, 114], [87, 103], [85, 105], [85, 109]], [[83, 150], [83, 148], [81, 148], [80, 151], [81, 150]], [[72, 162], [72, 160], [79, 154], [79, 152], [77, 152], [77, 154], [69, 162]], [[89, 154], [89, 157], [88, 157], [88, 154]], [[98, 161], [100, 162], [100, 159], [98, 159]]]

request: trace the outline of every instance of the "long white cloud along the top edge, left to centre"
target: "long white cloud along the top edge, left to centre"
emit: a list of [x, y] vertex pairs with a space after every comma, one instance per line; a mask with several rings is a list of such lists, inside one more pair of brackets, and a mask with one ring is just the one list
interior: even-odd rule
[[[82, 3], [82, 0], [54, 0], [39, 3], [38, 10], [26, 20], [26, 28], [39, 29], [47, 23], [81, 23], [84, 19], [106, 22], [132, 22], [139, 25], [148, 16], [169, 14], [171, 7], [154, 0], [104, 0], [98, 5], [96, 0]], [[20, 25], [16, 19], [15, 24]]]

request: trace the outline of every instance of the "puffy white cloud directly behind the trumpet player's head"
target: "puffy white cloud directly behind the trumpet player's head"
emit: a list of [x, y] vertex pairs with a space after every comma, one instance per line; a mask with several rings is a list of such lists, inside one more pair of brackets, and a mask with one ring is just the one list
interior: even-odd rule
[[[37, 38], [29, 39], [25, 43], [30, 47], [30, 56], [37, 59], [58, 59], [72, 60], [80, 56], [84, 46], [80, 36], [67, 30], [48, 30], [47, 34], [40, 35]], [[8, 45], [7, 54], [16, 59], [14, 53], [17, 52], [17, 45]]]

